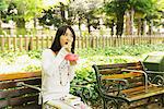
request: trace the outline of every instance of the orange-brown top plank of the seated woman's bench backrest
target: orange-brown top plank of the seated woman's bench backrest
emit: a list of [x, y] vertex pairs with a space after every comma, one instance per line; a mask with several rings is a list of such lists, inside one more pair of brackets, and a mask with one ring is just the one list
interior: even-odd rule
[[42, 71], [35, 72], [17, 72], [17, 73], [10, 73], [10, 74], [0, 74], [0, 81], [8, 81], [8, 80], [17, 80], [17, 78], [27, 78], [27, 77], [35, 77], [40, 76]]

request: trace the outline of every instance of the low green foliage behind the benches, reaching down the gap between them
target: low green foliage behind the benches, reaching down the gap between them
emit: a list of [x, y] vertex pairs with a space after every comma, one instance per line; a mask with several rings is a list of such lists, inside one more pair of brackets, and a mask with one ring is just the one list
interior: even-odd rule
[[[164, 51], [164, 44], [160, 45], [134, 45], [122, 47], [108, 47], [108, 48], [85, 48], [78, 49], [75, 53], [80, 56], [79, 64], [75, 66], [77, 76], [72, 81], [71, 85], [85, 84], [87, 82], [95, 82], [95, 74], [93, 72], [93, 64], [108, 64], [108, 63], [122, 63], [142, 60], [142, 55], [152, 51]], [[19, 64], [19, 68], [23, 64], [23, 71], [40, 70], [40, 63], [36, 64], [34, 61], [42, 58], [42, 50], [32, 50], [30, 52], [0, 52], [0, 65], [5, 61], [8, 64]], [[32, 62], [30, 62], [32, 61]], [[27, 63], [27, 64], [26, 64]], [[30, 64], [28, 64], [30, 63]], [[14, 68], [15, 69], [15, 68]], [[1, 73], [1, 72], [0, 72]], [[125, 72], [126, 73], [126, 72]], [[91, 105], [99, 104], [98, 94], [96, 93], [95, 83], [87, 84], [86, 87], [91, 89], [92, 96], [86, 99]], [[79, 95], [82, 92], [81, 87], [71, 87], [71, 93]]]

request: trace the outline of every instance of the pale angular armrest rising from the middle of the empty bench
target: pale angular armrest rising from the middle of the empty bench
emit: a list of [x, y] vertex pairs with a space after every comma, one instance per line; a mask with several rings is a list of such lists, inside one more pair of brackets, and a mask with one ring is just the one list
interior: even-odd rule
[[149, 83], [149, 81], [148, 81], [148, 74], [147, 74], [147, 72], [141, 71], [141, 70], [127, 70], [127, 69], [124, 69], [121, 71], [125, 71], [125, 72], [137, 72], [137, 73], [144, 74], [144, 76], [145, 76], [145, 80], [144, 80], [145, 81], [145, 93], [148, 93], [148, 83]]

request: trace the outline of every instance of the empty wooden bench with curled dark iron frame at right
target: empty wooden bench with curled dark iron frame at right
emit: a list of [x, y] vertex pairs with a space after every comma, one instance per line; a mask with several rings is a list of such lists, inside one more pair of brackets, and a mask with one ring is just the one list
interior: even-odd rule
[[104, 109], [163, 107], [164, 87], [148, 81], [141, 62], [94, 64], [93, 69], [96, 75], [96, 89], [103, 98]]

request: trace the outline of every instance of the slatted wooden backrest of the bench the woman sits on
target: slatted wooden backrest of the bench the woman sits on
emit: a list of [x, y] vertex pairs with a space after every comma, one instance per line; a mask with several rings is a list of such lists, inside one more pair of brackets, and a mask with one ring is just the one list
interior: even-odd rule
[[40, 86], [40, 71], [26, 73], [0, 74], [0, 108], [42, 109], [38, 106], [38, 90], [17, 86], [24, 82]]

